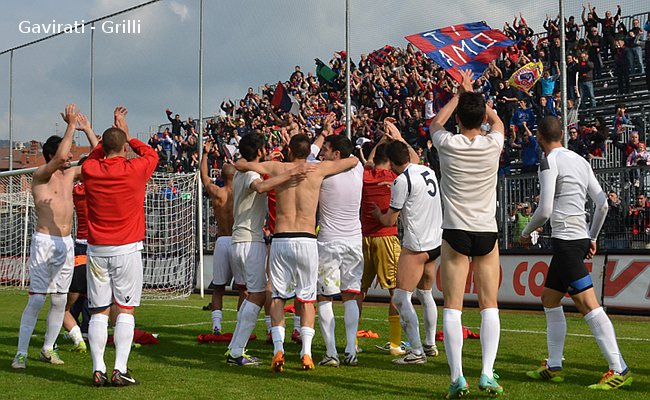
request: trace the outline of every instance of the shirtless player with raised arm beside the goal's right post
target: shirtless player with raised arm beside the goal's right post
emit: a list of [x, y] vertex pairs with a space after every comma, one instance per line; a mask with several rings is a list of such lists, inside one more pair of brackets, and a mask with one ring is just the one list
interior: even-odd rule
[[[215, 335], [223, 335], [221, 331], [223, 295], [226, 285], [233, 278], [233, 270], [230, 265], [230, 250], [233, 217], [233, 177], [237, 171], [232, 164], [224, 164], [221, 169], [221, 177], [224, 186], [219, 187], [212, 183], [208, 176], [208, 154], [212, 148], [212, 140], [206, 141], [203, 146], [203, 155], [199, 170], [201, 182], [212, 202], [212, 211], [217, 221], [217, 241], [214, 245], [212, 255], [212, 331]], [[241, 274], [235, 275], [235, 286], [240, 293], [240, 303], [246, 296], [246, 284]]]

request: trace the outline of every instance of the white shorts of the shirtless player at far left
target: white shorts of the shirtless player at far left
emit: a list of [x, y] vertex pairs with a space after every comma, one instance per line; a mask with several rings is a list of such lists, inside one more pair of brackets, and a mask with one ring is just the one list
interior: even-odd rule
[[30, 293], [68, 293], [74, 270], [72, 237], [34, 232], [27, 268]]

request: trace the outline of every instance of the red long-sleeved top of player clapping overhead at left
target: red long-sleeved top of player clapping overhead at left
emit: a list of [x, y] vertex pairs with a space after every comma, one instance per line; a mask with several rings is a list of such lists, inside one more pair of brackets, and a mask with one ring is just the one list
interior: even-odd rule
[[88, 205], [88, 244], [119, 246], [144, 239], [144, 196], [158, 154], [138, 139], [129, 141], [140, 157], [104, 158], [100, 142], [81, 167]]

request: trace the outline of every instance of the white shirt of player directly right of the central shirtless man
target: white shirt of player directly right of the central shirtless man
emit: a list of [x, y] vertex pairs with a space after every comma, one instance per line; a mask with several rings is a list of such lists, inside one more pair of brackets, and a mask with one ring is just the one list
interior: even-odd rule
[[319, 198], [319, 242], [361, 240], [363, 165], [323, 179]]

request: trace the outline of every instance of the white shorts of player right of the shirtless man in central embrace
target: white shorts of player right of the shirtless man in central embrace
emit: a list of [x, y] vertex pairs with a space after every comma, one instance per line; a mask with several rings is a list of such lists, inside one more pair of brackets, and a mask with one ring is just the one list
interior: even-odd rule
[[359, 240], [318, 242], [318, 294], [361, 293], [363, 245]]

